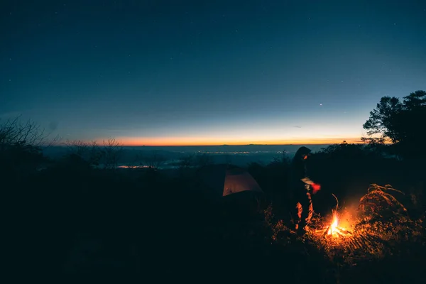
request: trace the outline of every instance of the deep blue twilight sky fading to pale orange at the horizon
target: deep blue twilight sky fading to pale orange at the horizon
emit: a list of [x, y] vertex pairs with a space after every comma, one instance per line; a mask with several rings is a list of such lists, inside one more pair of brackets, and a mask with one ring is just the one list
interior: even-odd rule
[[1, 1], [0, 35], [1, 120], [62, 141], [358, 141], [426, 89], [426, 1]]

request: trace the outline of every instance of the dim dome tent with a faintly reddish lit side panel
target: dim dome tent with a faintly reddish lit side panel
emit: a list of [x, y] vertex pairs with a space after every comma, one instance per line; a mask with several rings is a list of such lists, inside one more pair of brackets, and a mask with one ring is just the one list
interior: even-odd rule
[[207, 165], [197, 171], [200, 190], [214, 197], [238, 192], [263, 193], [256, 180], [244, 169], [234, 165]]

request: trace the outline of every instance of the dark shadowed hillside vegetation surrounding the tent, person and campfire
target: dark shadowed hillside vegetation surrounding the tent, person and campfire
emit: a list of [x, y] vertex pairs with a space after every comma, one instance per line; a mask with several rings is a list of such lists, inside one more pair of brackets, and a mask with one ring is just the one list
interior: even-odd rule
[[[311, 230], [296, 236], [285, 158], [247, 165], [264, 195], [212, 200], [197, 190], [187, 158], [175, 175], [94, 167], [102, 159], [114, 165], [117, 145], [109, 141], [85, 148], [96, 155], [48, 160], [31, 125], [9, 121], [0, 131], [6, 255], [15, 279], [424, 283], [422, 153], [389, 156], [393, 145], [377, 141], [315, 153], [310, 173], [322, 190]], [[332, 194], [342, 214], [352, 215], [351, 234], [334, 239], [322, 234], [336, 207]]]

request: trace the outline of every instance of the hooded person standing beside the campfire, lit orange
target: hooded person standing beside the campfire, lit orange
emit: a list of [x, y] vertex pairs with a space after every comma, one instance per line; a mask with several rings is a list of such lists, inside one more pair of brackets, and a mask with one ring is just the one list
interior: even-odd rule
[[309, 148], [300, 147], [295, 153], [292, 162], [291, 190], [293, 190], [297, 209], [295, 229], [297, 234], [301, 235], [306, 234], [314, 212], [311, 193], [315, 195], [321, 189], [320, 185], [312, 182], [307, 175], [306, 162], [310, 153]]

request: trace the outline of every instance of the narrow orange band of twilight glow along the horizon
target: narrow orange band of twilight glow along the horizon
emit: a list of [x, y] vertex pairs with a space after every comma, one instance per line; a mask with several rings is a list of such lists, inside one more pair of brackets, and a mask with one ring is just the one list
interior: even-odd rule
[[[99, 141], [105, 140], [104, 138]], [[163, 138], [138, 138], [138, 137], [117, 137], [123, 146], [221, 146], [221, 145], [312, 145], [312, 144], [335, 144], [346, 141], [347, 143], [362, 143], [359, 138], [312, 138], [312, 139], [226, 139], [207, 137], [163, 137]]]

